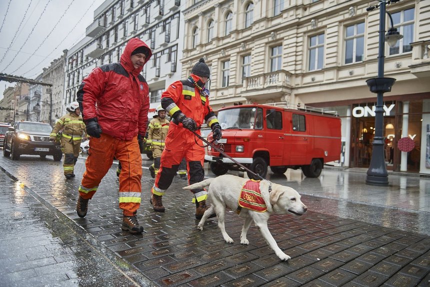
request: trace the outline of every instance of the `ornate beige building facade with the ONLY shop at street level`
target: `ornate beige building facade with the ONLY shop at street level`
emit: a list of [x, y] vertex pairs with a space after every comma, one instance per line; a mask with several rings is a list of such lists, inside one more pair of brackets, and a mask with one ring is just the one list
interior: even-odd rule
[[[385, 44], [385, 161], [388, 169], [430, 173], [430, 6], [387, 5], [403, 38]], [[363, 0], [194, 0], [183, 10], [182, 76], [199, 57], [211, 69], [214, 109], [239, 102], [286, 102], [335, 110], [342, 119], [338, 165], [368, 167], [376, 95], [379, 11]], [[387, 16], [386, 29], [391, 26]], [[414, 147], [401, 151], [397, 141]]]

